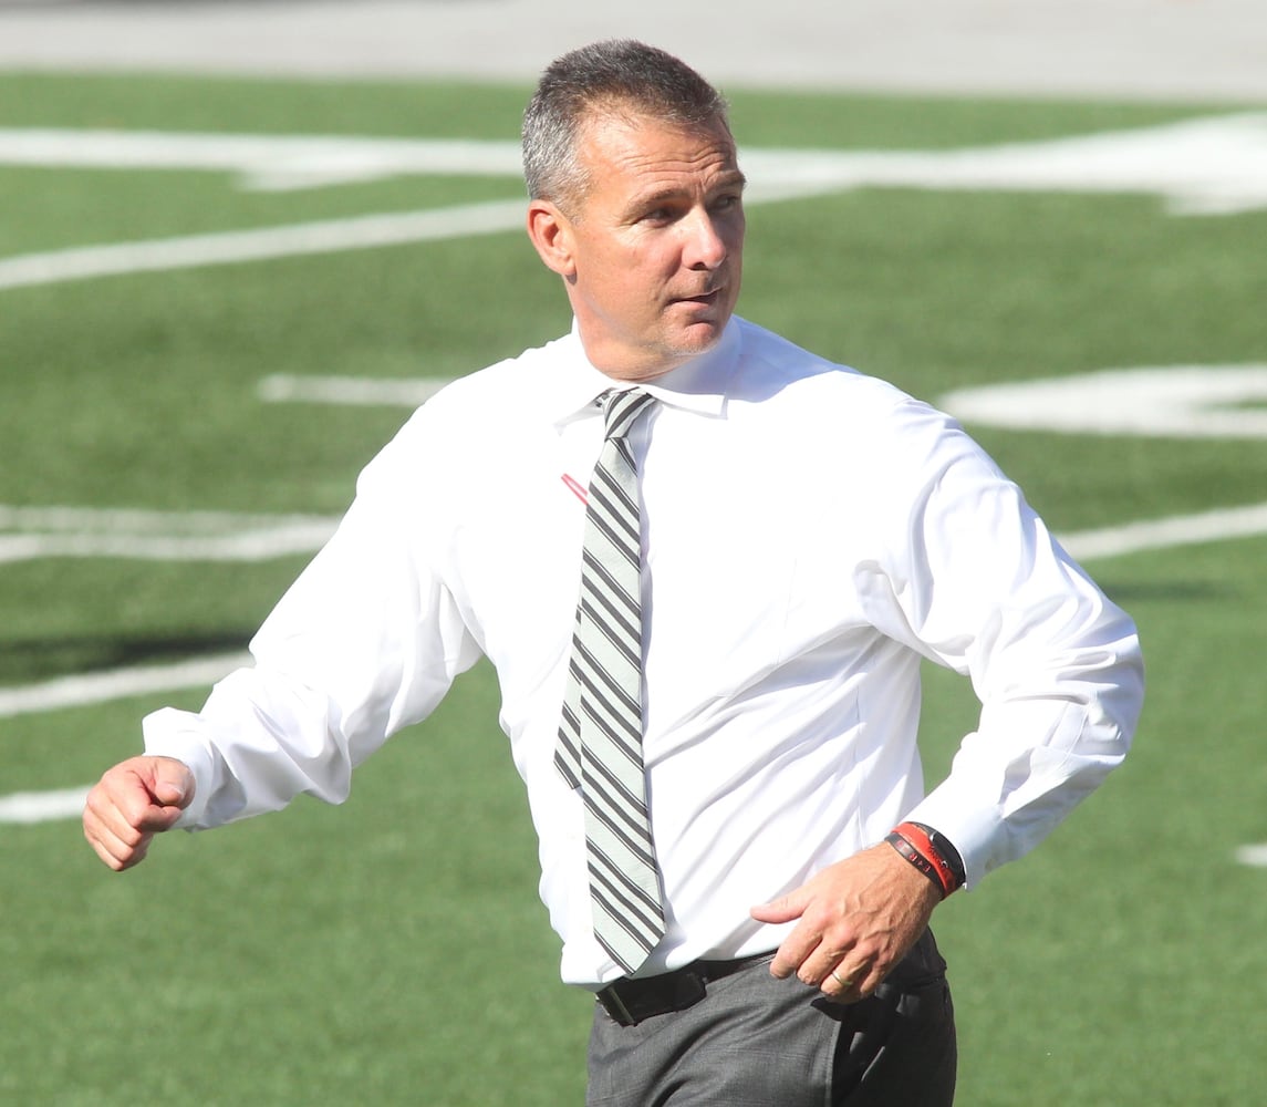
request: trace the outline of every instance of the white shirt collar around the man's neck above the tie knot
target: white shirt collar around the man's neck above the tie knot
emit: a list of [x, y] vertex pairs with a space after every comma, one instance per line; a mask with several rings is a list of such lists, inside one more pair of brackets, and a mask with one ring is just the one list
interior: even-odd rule
[[[575, 320], [571, 332], [557, 341], [559, 358], [551, 369], [550, 410], [556, 426], [571, 422], [593, 408], [594, 401], [609, 388], [625, 387], [599, 372], [585, 356]], [[731, 318], [721, 341], [711, 350], [661, 377], [639, 384], [661, 403], [720, 416], [726, 405], [726, 389], [739, 364], [740, 327]]]

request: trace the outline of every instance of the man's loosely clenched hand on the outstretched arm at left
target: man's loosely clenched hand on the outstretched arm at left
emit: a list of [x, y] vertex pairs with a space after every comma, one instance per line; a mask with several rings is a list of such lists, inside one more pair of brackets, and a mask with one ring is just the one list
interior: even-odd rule
[[115, 765], [87, 794], [84, 837], [115, 871], [144, 861], [153, 836], [170, 831], [194, 798], [194, 774], [172, 757]]

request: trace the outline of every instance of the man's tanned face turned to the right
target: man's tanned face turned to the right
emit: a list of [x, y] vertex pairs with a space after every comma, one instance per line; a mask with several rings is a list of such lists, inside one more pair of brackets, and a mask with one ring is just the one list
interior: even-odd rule
[[744, 175], [721, 120], [683, 131], [598, 117], [583, 132], [589, 188], [563, 217], [561, 268], [585, 351], [646, 380], [711, 349], [739, 299]]

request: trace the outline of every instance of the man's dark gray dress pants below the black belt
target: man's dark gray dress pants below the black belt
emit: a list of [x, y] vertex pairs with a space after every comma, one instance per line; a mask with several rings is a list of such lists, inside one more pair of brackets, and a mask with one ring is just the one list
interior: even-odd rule
[[[773, 954], [770, 955], [773, 959]], [[588, 1107], [949, 1107], [955, 1031], [931, 932], [862, 1003], [832, 1003], [769, 960], [684, 1011], [620, 1026], [599, 1006]]]

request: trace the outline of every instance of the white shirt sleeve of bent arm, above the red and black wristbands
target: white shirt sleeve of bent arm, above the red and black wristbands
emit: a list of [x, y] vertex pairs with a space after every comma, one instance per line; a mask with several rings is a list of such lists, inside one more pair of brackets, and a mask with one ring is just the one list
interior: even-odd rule
[[950, 420], [912, 410], [921, 429], [905, 448], [922, 455], [922, 491], [898, 501], [901, 553], [859, 592], [884, 633], [969, 676], [981, 700], [950, 775], [912, 813], [955, 843], [971, 885], [1038, 845], [1126, 756], [1143, 662], [1131, 620], [1020, 489]]

